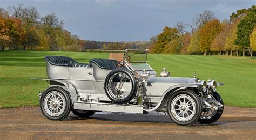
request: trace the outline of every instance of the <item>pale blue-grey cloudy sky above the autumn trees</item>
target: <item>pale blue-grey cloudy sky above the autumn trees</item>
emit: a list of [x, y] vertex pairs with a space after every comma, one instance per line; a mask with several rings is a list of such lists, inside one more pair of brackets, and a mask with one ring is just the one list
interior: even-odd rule
[[6, 8], [23, 3], [35, 6], [41, 16], [56, 13], [64, 28], [80, 39], [96, 41], [147, 41], [165, 26], [191, 23], [204, 10], [223, 20], [249, 8], [256, 0], [0, 0]]

